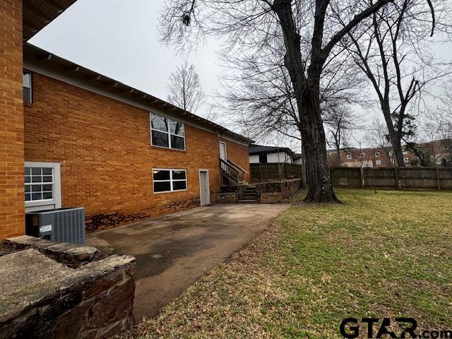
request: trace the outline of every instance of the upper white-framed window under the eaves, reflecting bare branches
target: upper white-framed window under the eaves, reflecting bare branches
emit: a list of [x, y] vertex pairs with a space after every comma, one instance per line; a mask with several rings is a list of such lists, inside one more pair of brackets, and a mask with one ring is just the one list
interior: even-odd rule
[[185, 150], [185, 126], [182, 122], [150, 112], [150, 143], [153, 146]]

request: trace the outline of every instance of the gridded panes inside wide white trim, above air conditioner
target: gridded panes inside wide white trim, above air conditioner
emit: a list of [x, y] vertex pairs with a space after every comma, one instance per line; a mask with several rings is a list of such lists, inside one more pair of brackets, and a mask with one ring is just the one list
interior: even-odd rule
[[54, 169], [25, 167], [25, 201], [52, 201], [53, 199]]

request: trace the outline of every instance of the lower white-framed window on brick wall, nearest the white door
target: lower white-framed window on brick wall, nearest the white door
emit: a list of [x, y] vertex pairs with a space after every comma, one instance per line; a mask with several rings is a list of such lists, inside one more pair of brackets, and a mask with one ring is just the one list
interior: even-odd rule
[[186, 191], [186, 169], [154, 168], [154, 193]]

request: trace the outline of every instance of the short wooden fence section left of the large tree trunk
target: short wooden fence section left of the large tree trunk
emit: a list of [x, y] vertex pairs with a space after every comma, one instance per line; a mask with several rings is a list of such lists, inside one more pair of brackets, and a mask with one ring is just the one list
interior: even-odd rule
[[251, 182], [266, 182], [268, 180], [301, 179], [302, 165], [273, 163], [250, 164]]

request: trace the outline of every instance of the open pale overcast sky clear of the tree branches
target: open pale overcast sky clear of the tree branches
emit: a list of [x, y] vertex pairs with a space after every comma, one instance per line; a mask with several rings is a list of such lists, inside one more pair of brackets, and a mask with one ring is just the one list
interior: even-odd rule
[[[78, 0], [30, 43], [166, 100], [169, 74], [182, 64], [183, 58], [158, 41], [157, 20], [164, 3], [165, 0]], [[219, 49], [218, 42], [210, 39], [189, 56], [206, 95], [220, 90], [219, 76], [224, 69], [216, 54]], [[450, 55], [450, 50], [437, 47], [438, 54]], [[208, 109], [204, 105], [198, 114], [206, 116]], [[381, 115], [378, 110], [357, 110], [364, 124], [371, 124]], [[220, 123], [227, 126], [227, 121]], [[364, 133], [355, 133], [351, 142], [358, 145], [362, 141], [366, 145]], [[297, 149], [293, 141], [275, 142]]]

